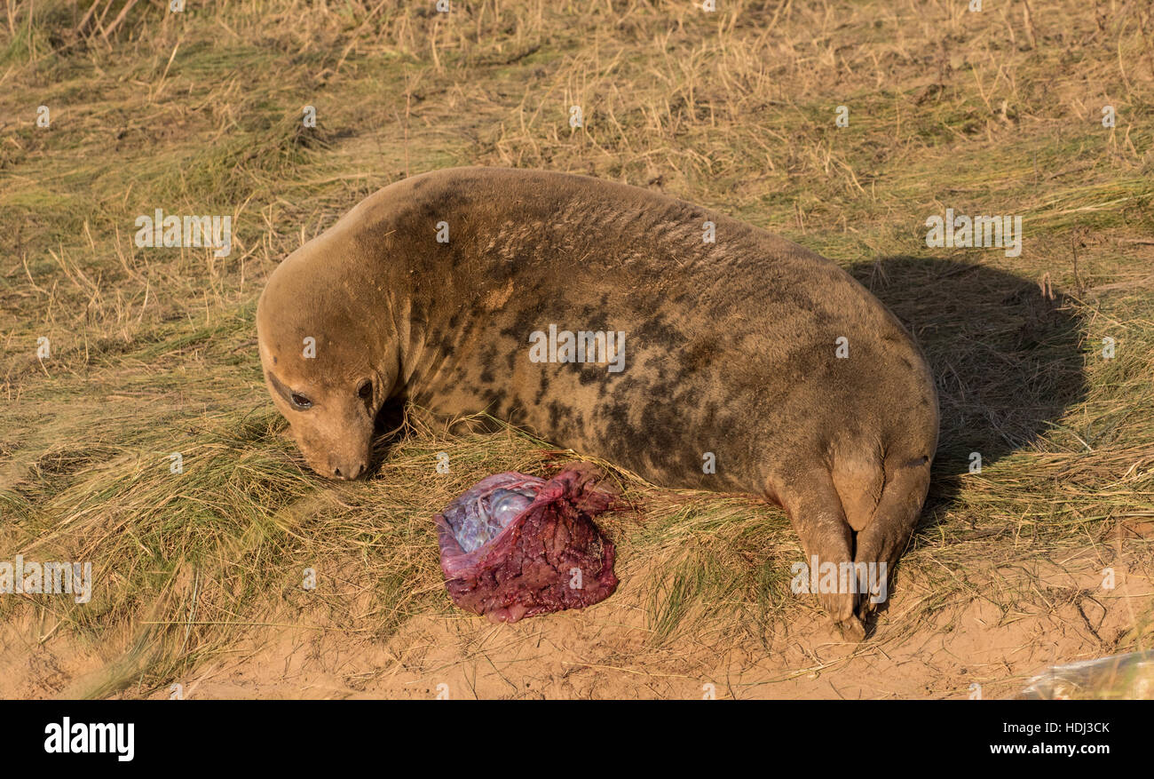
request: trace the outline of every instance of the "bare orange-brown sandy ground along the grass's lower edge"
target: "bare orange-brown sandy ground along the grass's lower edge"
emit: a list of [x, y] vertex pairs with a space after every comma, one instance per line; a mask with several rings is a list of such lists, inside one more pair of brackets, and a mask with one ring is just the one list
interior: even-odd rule
[[[1148, 523], [1147, 523], [1148, 524]], [[387, 638], [350, 632], [321, 616], [309, 596], [290, 594], [265, 624], [166, 689], [118, 697], [167, 698], [984, 698], [1010, 697], [1048, 666], [1110, 654], [1130, 631], [1139, 599], [1154, 594], [1152, 529], [1115, 538], [1114, 590], [1102, 587], [1088, 546], [1044, 570], [967, 571], [998, 577], [1035, 598], [999, 605], [974, 592], [930, 616], [904, 619], [931, 596], [902, 582], [872, 636], [840, 639], [814, 609], [779, 624], [764, 644], [740, 620], [690, 619], [660, 646], [649, 641], [640, 592], [630, 577], [583, 612], [490, 624], [447, 609], [417, 615]], [[1137, 554], [1136, 554], [1137, 553]], [[1041, 585], [1041, 586], [1039, 586]], [[351, 587], [338, 597], [355, 598]], [[447, 598], [448, 600], [448, 598]], [[1049, 604], [1039, 607], [1037, 604]], [[906, 626], [899, 630], [899, 627]], [[0, 696], [70, 695], [104, 673], [115, 651], [85, 647], [52, 624], [0, 631]], [[127, 639], [123, 644], [127, 647]], [[22, 650], [22, 651], [21, 651]], [[175, 687], [178, 686], [179, 687]], [[980, 686], [974, 687], [974, 686]], [[70, 692], [72, 691], [72, 692]]]

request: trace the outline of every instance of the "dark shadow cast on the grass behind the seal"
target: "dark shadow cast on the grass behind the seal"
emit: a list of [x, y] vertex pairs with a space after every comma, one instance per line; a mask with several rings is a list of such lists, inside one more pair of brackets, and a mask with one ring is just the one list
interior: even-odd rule
[[926, 353], [942, 427], [922, 523], [954, 502], [972, 452], [982, 466], [1028, 447], [1086, 395], [1080, 322], [1061, 293], [980, 264], [882, 257], [849, 269]]

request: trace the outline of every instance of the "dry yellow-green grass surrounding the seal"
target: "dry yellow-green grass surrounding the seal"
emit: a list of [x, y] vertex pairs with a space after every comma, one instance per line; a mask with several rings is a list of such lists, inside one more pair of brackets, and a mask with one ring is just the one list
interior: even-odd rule
[[[325, 482], [265, 397], [253, 314], [279, 259], [360, 197], [454, 164], [702, 202], [842, 262], [909, 324], [943, 448], [896, 593], [916, 606], [878, 641], [974, 600], [1010, 621], [1108, 599], [1042, 580], [1074, 554], [1148, 578], [1148, 531], [1124, 532], [1154, 516], [1148, 2], [1035, 3], [1028, 23], [1018, 3], [912, 0], [165, 5], [9, 2], [0, 20], [0, 560], [91, 560], [99, 583], [84, 607], [8, 597], [0, 614], [107, 661], [58, 688], [145, 694], [286, 621], [384, 637], [451, 613], [432, 512], [564, 454], [411, 424], [370, 481]], [[1022, 215], [1022, 255], [927, 249], [946, 207]], [[232, 255], [137, 248], [156, 208], [232, 215]], [[650, 629], [622, 662], [706, 628], [769, 647], [815, 608], [789, 593], [780, 512], [614, 477], [639, 509], [609, 527], [619, 572]], [[306, 567], [349, 589], [301, 591]], [[1088, 652], [1149, 649], [1152, 604], [1124, 606]]]

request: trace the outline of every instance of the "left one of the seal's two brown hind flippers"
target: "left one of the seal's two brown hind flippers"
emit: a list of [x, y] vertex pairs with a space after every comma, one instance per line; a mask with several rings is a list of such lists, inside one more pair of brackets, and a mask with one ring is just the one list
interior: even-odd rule
[[[833, 479], [822, 466], [771, 490], [801, 538], [809, 571], [807, 589], [816, 594], [847, 641], [861, 641], [865, 628], [854, 613], [853, 530], [846, 522]], [[816, 559], [816, 560], [815, 560]], [[816, 569], [815, 569], [816, 563]]]

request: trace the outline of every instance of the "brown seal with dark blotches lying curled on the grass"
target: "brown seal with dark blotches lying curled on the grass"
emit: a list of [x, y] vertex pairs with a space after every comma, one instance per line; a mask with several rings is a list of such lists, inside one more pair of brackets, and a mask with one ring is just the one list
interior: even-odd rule
[[[702, 239], [717, 225], [717, 242]], [[435, 240], [437, 223], [450, 240]], [[530, 334], [625, 332], [625, 369], [531, 362]], [[597, 179], [418, 175], [272, 274], [261, 359], [312, 467], [354, 478], [388, 398], [488, 411], [658, 485], [752, 492], [807, 553], [892, 569], [916, 524], [938, 409], [921, 352], [834, 263], [724, 215]], [[316, 358], [302, 358], [302, 339]], [[849, 357], [837, 359], [835, 340]], [[372, 382], [370, 397], [358, 388]], [[717, 473], [703, 473], [703, 456]], [[871, 607], [822, 596], [854, 637]], [[856, 613], [855, 613], [856, 612]]]

